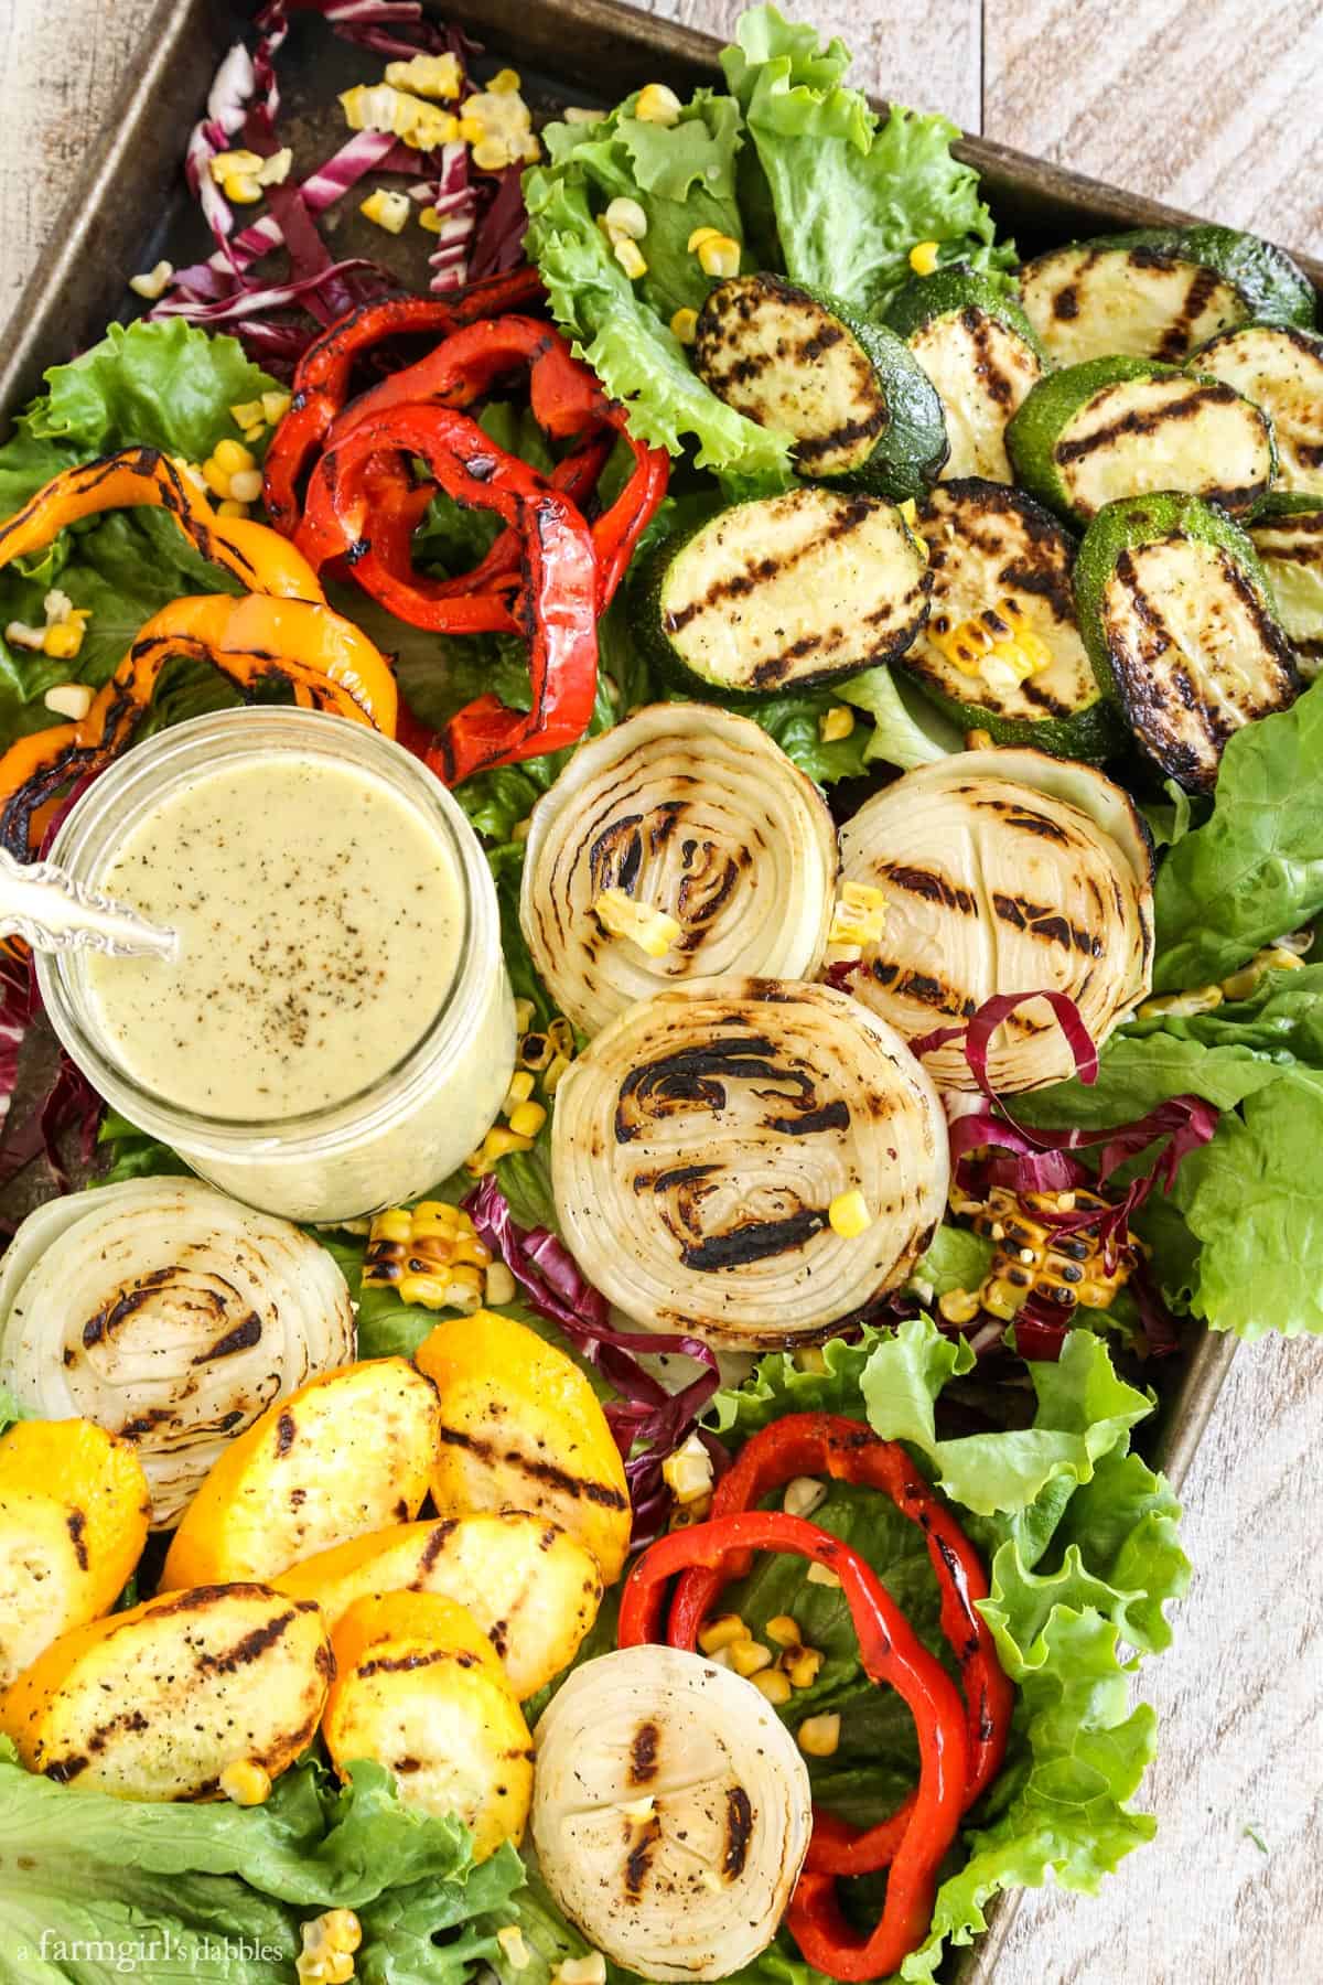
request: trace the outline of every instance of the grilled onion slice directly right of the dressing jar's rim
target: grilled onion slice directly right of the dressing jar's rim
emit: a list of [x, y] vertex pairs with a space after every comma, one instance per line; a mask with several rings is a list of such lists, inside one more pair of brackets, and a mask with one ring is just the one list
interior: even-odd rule
[[[827, 804], [766, 730], [653, 703], [583, 744], [534, 808], [520, 923], [561, 1012], [597, 1034], [668, 981], [811, 979], [835, 871]], [[607, 933], [605, 889], [674, 917], [664, 957]]]

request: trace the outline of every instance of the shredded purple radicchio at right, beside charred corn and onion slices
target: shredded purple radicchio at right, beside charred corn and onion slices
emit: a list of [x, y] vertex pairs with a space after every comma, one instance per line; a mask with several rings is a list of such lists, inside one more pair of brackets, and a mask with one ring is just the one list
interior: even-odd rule
[[[964, 1038], [964, 1058], [988, 1106], [956, 1118], [950, 1125], [950, 1155], [956, 1185], [970, 1197], [984, 1199], [996, 1185], [1014, 1193], [1097, 1191], [1131, 1159], [1164, 1139], [1152, 1163], [1107, 1205], [1075, 1207], [1071, 1211], [1035, 1209], [1035, 1217], [1059, 1233], [1093, 1233], [1103, 1247], [1103, 1264], [1111, 1272], [1127, 1243], [1131, 1223], [1156, 1185], [1170, 1193], [1176, 1171], [1190, 1151], [1208, 1143], [1218, 1127], [1218, 1110], [1200, 1096], [1172, 1096], [1131, 1124], [1107, 1129], [1027, 1129], [1020, 1124], [988, 1080], [988, 1048], [998, 1026], [1025, 1000], [1045, 998], [1065, 1034], [1075, 1072], [1083, 1084], [1097, 1082], [1099, 1056], [1083, 1024], [1079, 1008], [1065, 992], [1018, 992], [984, 1000], [966, 1026], [944, 1026], [910, 1042], [914, 1054], [928, 1054], [948, 1040]], [[1093, 1169], [1075, 1157], [1077, 1151], [1097, 1153]], [[1176, 1324], [1143, 1260], [1131, 1274], [1131, 1290], [1139, 1304], [1150, 1352], [1176, 1348]], [[1065, 1342], [1067, 1324], [1049, 1304], [1029, 1296], [1016, 1312], [1016, 1346], [1023, 1358], [1055, 1358]], [[1031, 1348], [1033, 1346], [1033, 1348]]]

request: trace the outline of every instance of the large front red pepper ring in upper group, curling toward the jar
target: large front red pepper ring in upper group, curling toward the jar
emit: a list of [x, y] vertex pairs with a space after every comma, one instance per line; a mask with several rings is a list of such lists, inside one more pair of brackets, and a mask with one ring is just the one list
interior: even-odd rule
[[373, 556], [373, 490], [395, 461], [401, 482], [411, 459], [456, 502], [494, 510], [520, 532], [522, 586], [514, 617], [528, 637], [532, 709], [510, 711], [478, 697], [422, 748], [432, 770], [456, 784], [470, 772], [514, 764], [575, 744], [597, 691], [597, 560], [583, 514], [528, 463], [508, 455], [466, 413], [450, 407], [389, 407], [329, 449], [313, 472], [300, 550], [313, 566], [347, 558], [365, 590], [413, 625], [470, 633], [500, 605], [494, 594], [426, 599]]

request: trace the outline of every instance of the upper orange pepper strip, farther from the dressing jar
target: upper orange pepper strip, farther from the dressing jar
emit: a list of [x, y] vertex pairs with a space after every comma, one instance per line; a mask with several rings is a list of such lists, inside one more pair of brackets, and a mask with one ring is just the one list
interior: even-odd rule
[[307, 560], [280, 532], [248, 518], [216, 516], [202, 490], [161, 449], [121, 449], [61, 470], [0, 524], [0, 566], [40, 552], [79, 518], [143, 506], [169, 510], [194, 552], [228, 572], [244, 592], [325, 599]]

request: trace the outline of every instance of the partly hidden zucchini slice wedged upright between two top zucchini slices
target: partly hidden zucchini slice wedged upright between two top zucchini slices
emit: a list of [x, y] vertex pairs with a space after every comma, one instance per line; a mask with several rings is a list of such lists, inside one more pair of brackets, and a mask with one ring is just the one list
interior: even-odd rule
[[944, 268], [906, 282], [887, 324], [904, 337], [942, 401], [950, 445], [942, 480], [1010, 482], [1006, 423], [1049, 369], [1020, 304], [986, 276]]

